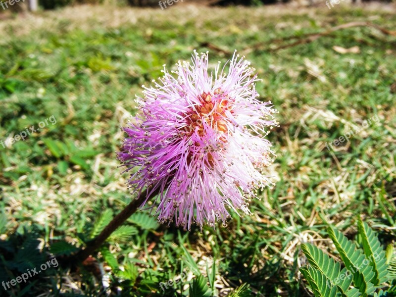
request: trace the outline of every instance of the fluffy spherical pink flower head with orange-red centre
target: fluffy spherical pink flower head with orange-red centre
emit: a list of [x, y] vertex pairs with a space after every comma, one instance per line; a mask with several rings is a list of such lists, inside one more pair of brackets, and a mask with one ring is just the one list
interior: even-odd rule
[[[228, 64], [228, 63], [227, 63]], [[134, 194], [159, 193], [153, 203], [161, 223], [184, 229], [226, 223], [230, 208], [250, 214], [248, 201], [271, 184], [263, 175], [274, 152], [265, 139], [278, 123], [271, 102], [255, 90], [255, 69], [236, 52], [208, 72], [208, 54], [194, 51], [138, 98], [143, 117], [123, 130], [118, 158], [132, 171]], [[147, 202], [144, 201], [144, 203]]]

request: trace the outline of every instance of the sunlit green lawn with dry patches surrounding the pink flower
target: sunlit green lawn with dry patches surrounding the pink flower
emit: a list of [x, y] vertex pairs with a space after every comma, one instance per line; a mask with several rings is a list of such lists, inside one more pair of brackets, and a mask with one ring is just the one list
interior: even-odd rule
[[[250, 203], [252, 216], [234, 213], [227, 227], [202, 233], [160, 226], [148, 211], [136, 213], [99, 253], [108, 292], [188, 295], [198, 269], [219, 296], [244, 283], [252, 296], [309, 296], [298, 272], [305, 261], [300, 244], [328, 247], [328, 224], [351, 237], [361, 216], [382, 243], [393, 244], [396, 38], [358, 27], [275, 52], [251, 50], [350, 21], [370, 19], [395, 30], [392, 11], [322, 6], [279, 14], [265, 7], [77, 6], [2, 20], [0, 140], [52, 115], [56, 124], [0, 146], [0, 239], [13, 247], [0, 261], [19, 263], [0, 270], [0, 278], [20, 275], [18, 265], [29, 259], [32, 267], [45, 262], [33, 251], [17, 254], [34, 239], [43, 252], [72, 252], [131, 200], [115, 160], [119, 127], [135, 114], [135, 94], [160, 76], [162, 64], [190, 59], [193, 49], [209, 50], [213, 65], [230, 58], [203, 43], [246, 54], [263, 79], [257, 84], [261, 99], [279, 110], [280, 127], [268, 136], [277, 152], [268, 168], [276, 186]], [[360, 52], [340, 54], [333, 46]], [[375, 115], [378, 123], [334, 150], [325, 147]], [[206, 269], [208, 257], [214, 266]], [[0, 296], [105, 296], [90, 267], [58, 266]], [[160, 282], [183, 271], [188, 277], [182, 285], [160, 289]]]

